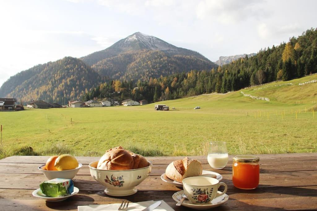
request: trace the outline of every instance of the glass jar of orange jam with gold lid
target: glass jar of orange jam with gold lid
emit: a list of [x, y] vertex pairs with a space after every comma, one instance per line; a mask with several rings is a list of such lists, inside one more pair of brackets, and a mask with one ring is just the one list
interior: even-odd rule
[[260, 158], [253, 155], [233, 157], [232, 182], [236, 188], [255, 189], [260, 181]]

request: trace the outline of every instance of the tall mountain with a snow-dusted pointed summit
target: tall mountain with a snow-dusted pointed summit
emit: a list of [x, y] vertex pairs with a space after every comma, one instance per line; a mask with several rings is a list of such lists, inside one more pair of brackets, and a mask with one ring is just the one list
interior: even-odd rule
[[217, 67], [200, 53], [140, 32], [80, 59], [101, 76], [123, 80], [148, 80], [161, 75]]

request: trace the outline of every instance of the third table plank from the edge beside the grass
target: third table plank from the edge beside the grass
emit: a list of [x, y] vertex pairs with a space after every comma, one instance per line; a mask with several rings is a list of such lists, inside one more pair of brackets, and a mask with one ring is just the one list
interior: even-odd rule
[[[223, 182], [228, 188], [234, 188], [230, 174], [223, 175]], [[260, 174], [259, 187], [271, 188], [277, 186], [297, 187], [317, 185], [317, 171], [289, 171]], [[0, 188], [2, 189], [37, 189], [46, 178], [41, 174], [0, 174]], [[104, 190], [105, 187], [93, 180], [89, 175], [77, 175], [74, 177], [74, 185], [80, 190]], [[177, 187], [165, 183], [159, 176], [146, 178], [138, 187], [143, 191], [179, 190]]]

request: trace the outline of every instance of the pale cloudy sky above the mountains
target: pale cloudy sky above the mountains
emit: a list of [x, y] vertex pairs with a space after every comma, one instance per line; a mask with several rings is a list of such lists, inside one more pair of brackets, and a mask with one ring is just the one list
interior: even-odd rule
[[316, 8], [315, 0], [0, 0], [0, 86], [138, 31], [211, 61], [257, 53], [316, 28]]

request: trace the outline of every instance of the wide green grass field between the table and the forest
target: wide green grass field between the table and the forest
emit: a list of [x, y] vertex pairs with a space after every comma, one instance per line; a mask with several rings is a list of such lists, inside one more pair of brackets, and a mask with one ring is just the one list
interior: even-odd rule
[[[226, 141], [230, 154], [317, 152], [317, 83], [298, 85], [316, 78], [242, 90], [270, 102], [243, 96], [239, 90], [161, 102], [177, 109], [171, 111], [154, 111], [153, 103], [0, 112], [0, 154], [100, 156], [124, 146], [145, 156], [206, 155], [212, 140]], [[294, 85], [275, 86], [285, 83]], [[194, 110], [196, 106], [201, 109]]]

